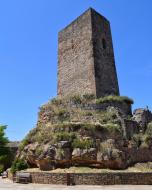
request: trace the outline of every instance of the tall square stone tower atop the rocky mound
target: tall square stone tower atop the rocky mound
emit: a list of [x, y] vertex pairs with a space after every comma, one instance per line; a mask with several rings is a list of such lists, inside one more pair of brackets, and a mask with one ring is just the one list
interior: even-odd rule
[[88, 9], [58, 36], [58, 95], [119, 95], [109, 21]]

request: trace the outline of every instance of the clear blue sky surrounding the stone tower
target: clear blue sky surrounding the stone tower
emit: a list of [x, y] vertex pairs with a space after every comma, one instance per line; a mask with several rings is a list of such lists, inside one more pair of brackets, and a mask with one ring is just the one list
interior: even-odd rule
[[56, 96], [58, 31], [89, 7], [111, 22], [121, 95], [152, 109], [151, 0], [0, 0], [0, 123], [10, 140]]

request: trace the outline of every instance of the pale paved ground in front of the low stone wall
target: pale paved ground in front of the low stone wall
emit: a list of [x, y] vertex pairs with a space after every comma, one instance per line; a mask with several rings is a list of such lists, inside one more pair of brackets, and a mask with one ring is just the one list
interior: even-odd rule
[[17, 184], [0, 178], [0, 190], [152, 190], [152, 185], [64, 186], [42, 184]]

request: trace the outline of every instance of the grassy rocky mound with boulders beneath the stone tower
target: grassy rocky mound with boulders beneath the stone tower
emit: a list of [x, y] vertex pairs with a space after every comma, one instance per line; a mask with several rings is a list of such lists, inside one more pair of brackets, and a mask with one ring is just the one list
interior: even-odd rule
[[151, 112], [136, 110], [133, 116], [127, 115], [120, 107], [112, 107], [111, 100], [105, 110], [86, 109], [95, 102], [93, 96], [85, 95], [53, 99], [42, 106], [37, 127], [23, 140], [17, 158], [41, 170], [70, 166], [124, 169], [152, 161]]

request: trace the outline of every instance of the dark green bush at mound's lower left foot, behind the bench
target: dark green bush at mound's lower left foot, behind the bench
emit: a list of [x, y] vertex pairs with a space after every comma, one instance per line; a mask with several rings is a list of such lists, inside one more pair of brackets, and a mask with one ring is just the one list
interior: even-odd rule
[[17, 171], [25, 170], [27, 168], [28, 164], [25, 161], [17, 159], [12, 164], [11, 172], [16, 173]]

